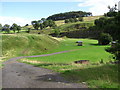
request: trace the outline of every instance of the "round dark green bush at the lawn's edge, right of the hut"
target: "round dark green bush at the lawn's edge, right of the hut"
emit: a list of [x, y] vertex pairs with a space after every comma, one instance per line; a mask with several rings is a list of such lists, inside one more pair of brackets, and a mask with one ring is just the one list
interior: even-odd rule
[[102, 33], [98, 39], [98, 44], [108, 45], [112, 41], [112, 37], [107, 33]]

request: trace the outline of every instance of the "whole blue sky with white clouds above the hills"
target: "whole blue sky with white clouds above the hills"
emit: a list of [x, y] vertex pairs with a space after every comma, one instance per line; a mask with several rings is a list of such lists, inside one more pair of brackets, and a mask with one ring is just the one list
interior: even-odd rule
[[33, 20], [69, 11], [103, 15], [108, 12], [108, 5], [114, 6], [118, 1], [120, 0], [0, 0], [0, 23], [24, 26]]

